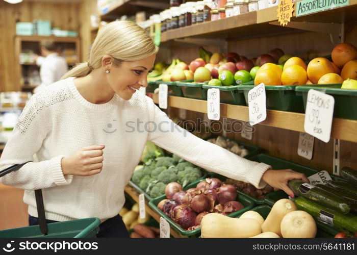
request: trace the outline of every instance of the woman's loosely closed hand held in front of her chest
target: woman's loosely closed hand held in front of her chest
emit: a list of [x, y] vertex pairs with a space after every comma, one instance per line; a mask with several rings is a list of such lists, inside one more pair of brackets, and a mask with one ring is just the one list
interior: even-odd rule
[[63, 175], [90, 176], [100, 173], [103, 168], [104, 148], [105, 145], [88, 146], [63, 158], [61, 161]]

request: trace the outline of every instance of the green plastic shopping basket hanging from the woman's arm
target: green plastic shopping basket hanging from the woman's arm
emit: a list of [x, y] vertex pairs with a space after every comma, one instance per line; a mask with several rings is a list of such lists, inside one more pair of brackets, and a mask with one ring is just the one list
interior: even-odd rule
[[93, 238], [99, 232], [100, 220], [96, 217], [48, 223], [44, 236], [39, 225], [0, 231], [0, 238]]

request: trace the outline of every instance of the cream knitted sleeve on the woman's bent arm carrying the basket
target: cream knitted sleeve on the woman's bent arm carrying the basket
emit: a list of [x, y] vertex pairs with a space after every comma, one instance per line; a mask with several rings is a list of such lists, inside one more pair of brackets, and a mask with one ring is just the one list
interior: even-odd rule
[[[6, 143], [0, 158], [1, 170], [14, 164], [34, 161], [34, 155], [50, 131], [50, 119], [46, 101], [41, 98], [41, 94], [33, 95]], [[73, 176], [63, 175], [62, 158], [63, 156], [59, 155], [41, 162], [29, 162], [19, 170], [1, 177], [0, 183], [28, 190], [70, 184]]]

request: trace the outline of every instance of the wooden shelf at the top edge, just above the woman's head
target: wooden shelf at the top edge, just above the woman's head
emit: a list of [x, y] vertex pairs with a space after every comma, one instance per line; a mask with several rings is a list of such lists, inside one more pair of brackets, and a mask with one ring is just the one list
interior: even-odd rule
[[100, 10], [101, 20], [114, 20], [121, 15], [135, 15], [136, 12], [159, 13], [169, 8], [169, 1], [116, 0], [108, 8]]

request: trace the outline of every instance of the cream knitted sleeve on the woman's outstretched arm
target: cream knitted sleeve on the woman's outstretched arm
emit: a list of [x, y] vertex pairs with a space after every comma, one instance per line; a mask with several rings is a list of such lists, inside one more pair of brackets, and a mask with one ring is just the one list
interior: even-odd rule
[[182, 129], [154, 105], [152, 130], [148, 140], [195, 165], [232, 179], [264, 188], [264, 172], [271, 166], [249, 161]]

